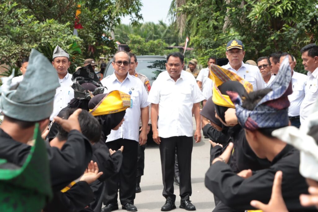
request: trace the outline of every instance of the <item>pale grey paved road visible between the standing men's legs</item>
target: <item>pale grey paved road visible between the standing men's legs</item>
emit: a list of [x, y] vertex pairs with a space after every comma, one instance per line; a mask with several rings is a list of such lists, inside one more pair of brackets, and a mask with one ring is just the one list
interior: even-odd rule
[[[197, 211], [209, 211], [215, 207], [213, 194], [204, 186], [204, 175], [209, 168], [210, 143], [208, 139], [202, 139], [200, 143], [193, 144], [192, 151], [192, 196], [190, 200], [196, 206]], [[159, 147], [149, 145], [145, 150], [145, 170], [141, 181], [141, 193], [136, 194], [135, 206], [138, 211], [160, 211], [165, 202], [162, 196], [162, 174]], [[176, 207], [173, 211], [185, 211], [179, 209], [179, 187], [175, 185]], [[118, 198], [119, 202], [119, 198]], [[121, 206], [119, 206], [121, 210]]]

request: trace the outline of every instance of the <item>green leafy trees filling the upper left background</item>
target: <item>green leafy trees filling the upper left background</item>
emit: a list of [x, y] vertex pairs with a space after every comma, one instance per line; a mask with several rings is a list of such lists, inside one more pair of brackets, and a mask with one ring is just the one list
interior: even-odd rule
[[[79, 22], [84, 27], [78, 30], [79, 37], [73, 35], [78, 4]], [[47, 44], [75, 51], [76, 43], [80, 58], [112, 54], [117, 46], [108, 32], [120, 24], [121, 16], [130, 16], [136, 25], [142, 20], [141, 6], [140, 0], [0, 0], [0, 64], [18, 65], [31, 48]]]

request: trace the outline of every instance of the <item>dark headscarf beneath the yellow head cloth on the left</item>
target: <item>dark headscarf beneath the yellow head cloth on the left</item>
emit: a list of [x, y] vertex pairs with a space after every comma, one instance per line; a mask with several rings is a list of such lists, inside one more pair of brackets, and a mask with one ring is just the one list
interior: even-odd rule
[[[92, 110], [105, 96], [106, 93], [97, 94], [94, 96], [88, 103], [89, 109]], [[95, 118], [100, 122], [104, 136], [109, 135], [110, 131], [121, 122], [125, 116], [125, 113], [126, 110], [118, 113], [95, 116]]]

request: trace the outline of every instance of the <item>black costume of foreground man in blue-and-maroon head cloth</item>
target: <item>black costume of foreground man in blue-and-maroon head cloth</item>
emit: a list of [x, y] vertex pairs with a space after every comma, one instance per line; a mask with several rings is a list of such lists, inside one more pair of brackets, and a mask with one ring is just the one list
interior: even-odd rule
[[299, 173], [299, 151], [290, 145], [273, 159], [267, 169], [254, 171], [248, 179], [233, 172], [224, 162], [217, 161], [205, 174], [205, 186], [222, 201], [222, 207], [213, 211], [244, 211], [254, 209], [250, 202], [267, 203], [271, 198], [275, 173], [283, 172], [282, 195], [289, 211], [305, 211], [299, 201], [300, 194], [308, 193], [308, 185]]

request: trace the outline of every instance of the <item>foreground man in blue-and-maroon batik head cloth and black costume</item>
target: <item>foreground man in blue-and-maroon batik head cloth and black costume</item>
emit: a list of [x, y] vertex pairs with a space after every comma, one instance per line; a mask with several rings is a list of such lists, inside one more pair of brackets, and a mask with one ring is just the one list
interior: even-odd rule
[[291, 71], [286, 59], [281, 64], [278, 75], [266, 89], [243, 95], [243, 101], [236, 92], [227, 92], [235, 105], [239, 123], [245, 129], [248, 145], [258, 160], [267, 159], [271, 161], [271, 165], [256, 172], [245, 170], [248, 174], [244, 177], [237, 175], [226, 164], [233, 147], [230, 143], [224, 153], [213, 160], [205, 175], [205, 186], [221, 200], [224, 208], [244, 211], [254, 209], [250, 205], [252, 200], [268, 202], [275, 173], [281, 170], [282, 195], [287, 209], [312, 210], [302, 207], [299, 201], [299, 195], [307, 193], [308, 189], [298, 170], [299, 152], [271, 135], [273, 130], [288, 125], [287, 96], [292, 92], [290, 81]]

